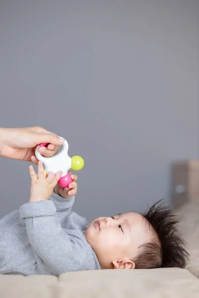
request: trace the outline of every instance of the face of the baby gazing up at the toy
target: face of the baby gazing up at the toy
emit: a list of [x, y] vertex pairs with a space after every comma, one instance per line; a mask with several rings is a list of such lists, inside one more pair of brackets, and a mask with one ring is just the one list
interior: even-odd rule
[[139, 246], [151, 241], [153, 231], [142, 215], [129, 212], [96, 219], [88, 226], [85, 236], [100, 266], [106, 269], [113, 268], [114, 260], [124, 257], [133, 260]]

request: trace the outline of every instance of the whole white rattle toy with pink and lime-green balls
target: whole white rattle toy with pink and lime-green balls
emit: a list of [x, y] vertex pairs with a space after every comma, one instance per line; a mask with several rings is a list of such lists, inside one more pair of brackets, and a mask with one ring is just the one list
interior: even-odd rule
[[42, 161], [46, 172], [53, 172], [56, 174], [59, 171], [63, 171], [61, 178], [58, 181], [59, 186], [68, 187], [72, 182], [71, 175], [68, 174], [68, 170], [79, 171], [84, 167], [84, 159], [81, 156], [70, 157], [68, 155], [69, 145], [65, 140], [62, 150], [51, 157], [44, 157], [38, 151], [39, 147], [47, 147], [48, 143], [41, 143], [35, 149], [35, 155], [38, 160]]

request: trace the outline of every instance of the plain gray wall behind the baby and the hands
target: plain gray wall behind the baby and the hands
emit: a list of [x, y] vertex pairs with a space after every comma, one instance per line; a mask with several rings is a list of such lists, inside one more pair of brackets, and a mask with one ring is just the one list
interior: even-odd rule
[[[199, 157], [199, 1], [0, 0], [0, 126], [39, 125], [82, 155], [88, 221], [171, 204], [171, 162]], [[29, 199], [0, 158], [0, 216]]]

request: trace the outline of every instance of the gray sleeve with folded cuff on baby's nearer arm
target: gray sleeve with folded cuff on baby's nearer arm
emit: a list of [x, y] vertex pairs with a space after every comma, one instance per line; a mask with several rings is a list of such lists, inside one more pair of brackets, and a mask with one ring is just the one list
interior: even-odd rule
[[[85, 244], [71, 237], [56, 221], [56, 207], [51, 200], [26, 203], [19, 208], [34, 252], [55, 275], [83, 268]], [[78, 235], [77, 235], [78, 236]]]

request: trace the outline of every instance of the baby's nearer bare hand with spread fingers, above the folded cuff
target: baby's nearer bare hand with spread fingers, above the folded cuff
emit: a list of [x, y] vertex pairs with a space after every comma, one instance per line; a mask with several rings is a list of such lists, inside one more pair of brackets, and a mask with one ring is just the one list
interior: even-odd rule
[[29, 202], [39, 202], [50, 199], [53, 188], [60, 179], [62, 171], [59, 171], [56, 175], [54, 175], [53, 172], [48, 172], [47, 176], [45, 177], [44, 168], [41, 161], [38, 162], [38, 178], [32, 165], [29, 167], [29, 171], [31, 177]]

